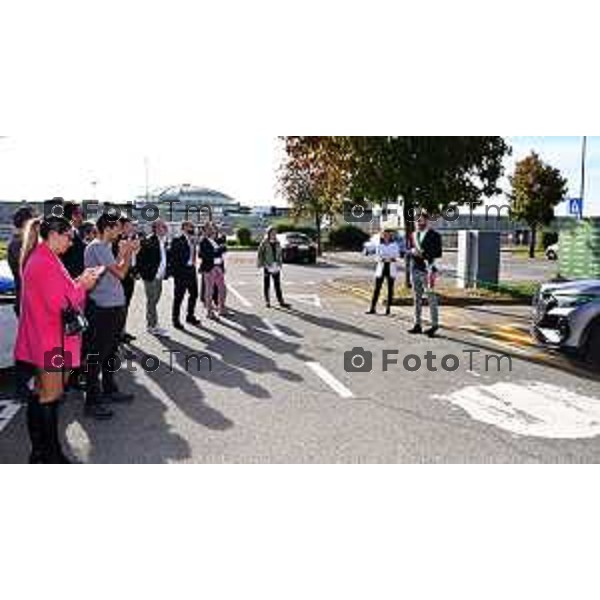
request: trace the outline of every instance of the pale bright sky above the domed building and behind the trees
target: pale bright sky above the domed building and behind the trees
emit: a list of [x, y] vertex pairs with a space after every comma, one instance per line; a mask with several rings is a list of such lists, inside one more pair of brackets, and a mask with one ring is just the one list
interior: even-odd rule
[[[2, 132], [0, 132], [2, 133]], [[513, 136], [507, 174], [531, 150], [561, 169], [569, 193], [579, 196], [580, 136]], [[282, 204], [277, 193], [281, 149], [276, 136], [220, 135], [207, 129], [174, 129], [119, 135], [85, 132], [0, 139], [0, 199], [54, 196], [133, 200], [145, 191], [145, 158], [151, 188], [191, 183], [229, 194], [242, 204]], [[96, 186], [92, 182], [97, 182]], [[508, 189], [506, 178], [502, 187]], [[588, 138], [586, 213], [600, 214], [600, 137]], [[559, 214], [561, 211], [559, 209]]]

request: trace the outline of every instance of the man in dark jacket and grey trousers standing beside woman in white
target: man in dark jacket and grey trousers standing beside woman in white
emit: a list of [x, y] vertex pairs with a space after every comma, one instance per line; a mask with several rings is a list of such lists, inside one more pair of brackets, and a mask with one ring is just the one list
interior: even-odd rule
[[436, 260], [442, 257], [442, 236], [431, 228], [429, 215], [424, 211], [417, 221], [417, 230], [410, 236], [409, 252], [412, 259], [411, 272], [415, 299], [415, 326], [409, 330], [409, 333], [423, 333], [421, 315], [423, 296], [427, 295], [431, 327], [424, 333], [432, 338], [439, 329], [439, 303], [435, 285], [438, 277]]

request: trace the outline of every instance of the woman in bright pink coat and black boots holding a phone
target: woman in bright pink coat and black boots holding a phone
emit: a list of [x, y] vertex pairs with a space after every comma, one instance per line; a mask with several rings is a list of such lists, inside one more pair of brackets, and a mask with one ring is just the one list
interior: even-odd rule
[[60, 256], [71, 245], [72, 236], [66, 219], [50, 217], [29, 221], [23, 238], [15, 360], [30, 365], [36, 378], [27, 406], [31, 463], [69, 462], [59, 441], [58, 400], [64, 390], [63, 377], [79, 366], [81, 335], [63, 335], [63, 310], [83, 310], [86, 292], [100, 275], [98, 270], [89, 269], [77, 280], [71, 279]]

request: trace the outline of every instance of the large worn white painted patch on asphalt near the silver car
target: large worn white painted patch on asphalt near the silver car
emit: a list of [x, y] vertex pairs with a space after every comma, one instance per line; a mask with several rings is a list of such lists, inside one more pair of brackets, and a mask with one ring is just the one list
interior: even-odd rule
[[600, 436], [600, 400], [548, 383], [473, 385], [434, 398], [516, 435], [552, 439]]

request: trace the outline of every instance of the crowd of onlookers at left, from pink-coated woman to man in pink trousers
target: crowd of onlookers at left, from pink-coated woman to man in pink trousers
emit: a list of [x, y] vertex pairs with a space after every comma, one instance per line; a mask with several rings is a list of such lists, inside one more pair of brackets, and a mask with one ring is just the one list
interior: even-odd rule
[[48, 217], [20, 208], [8, 248], [17, 293], [17, 395], [27, 402], [32, 463], [69, 462], [58, 430], [66, 387], [82, 389], [84, 414], [99, 420], [113, 416], [112, 404], [133, 400], [118, 389], [115, 366], [119, 345], [135, 339], [126, 323], [138, 280], [151, 335], [169, 334], [160, 327], [157, 309], [169, 278], [175, 329], [184, 329], [180, 313], [186, 295], [187, 325], [200, 325], [199, 296], [209, 319], [227, 314], [226, 239], [212, 223], [198, 229], [185, 221], [170, 241], [160, 219], [144, 235], [129, 218], [105, 212], [90, 230], [79, 205], [62, 202], [61, 208], [61, 216]]

